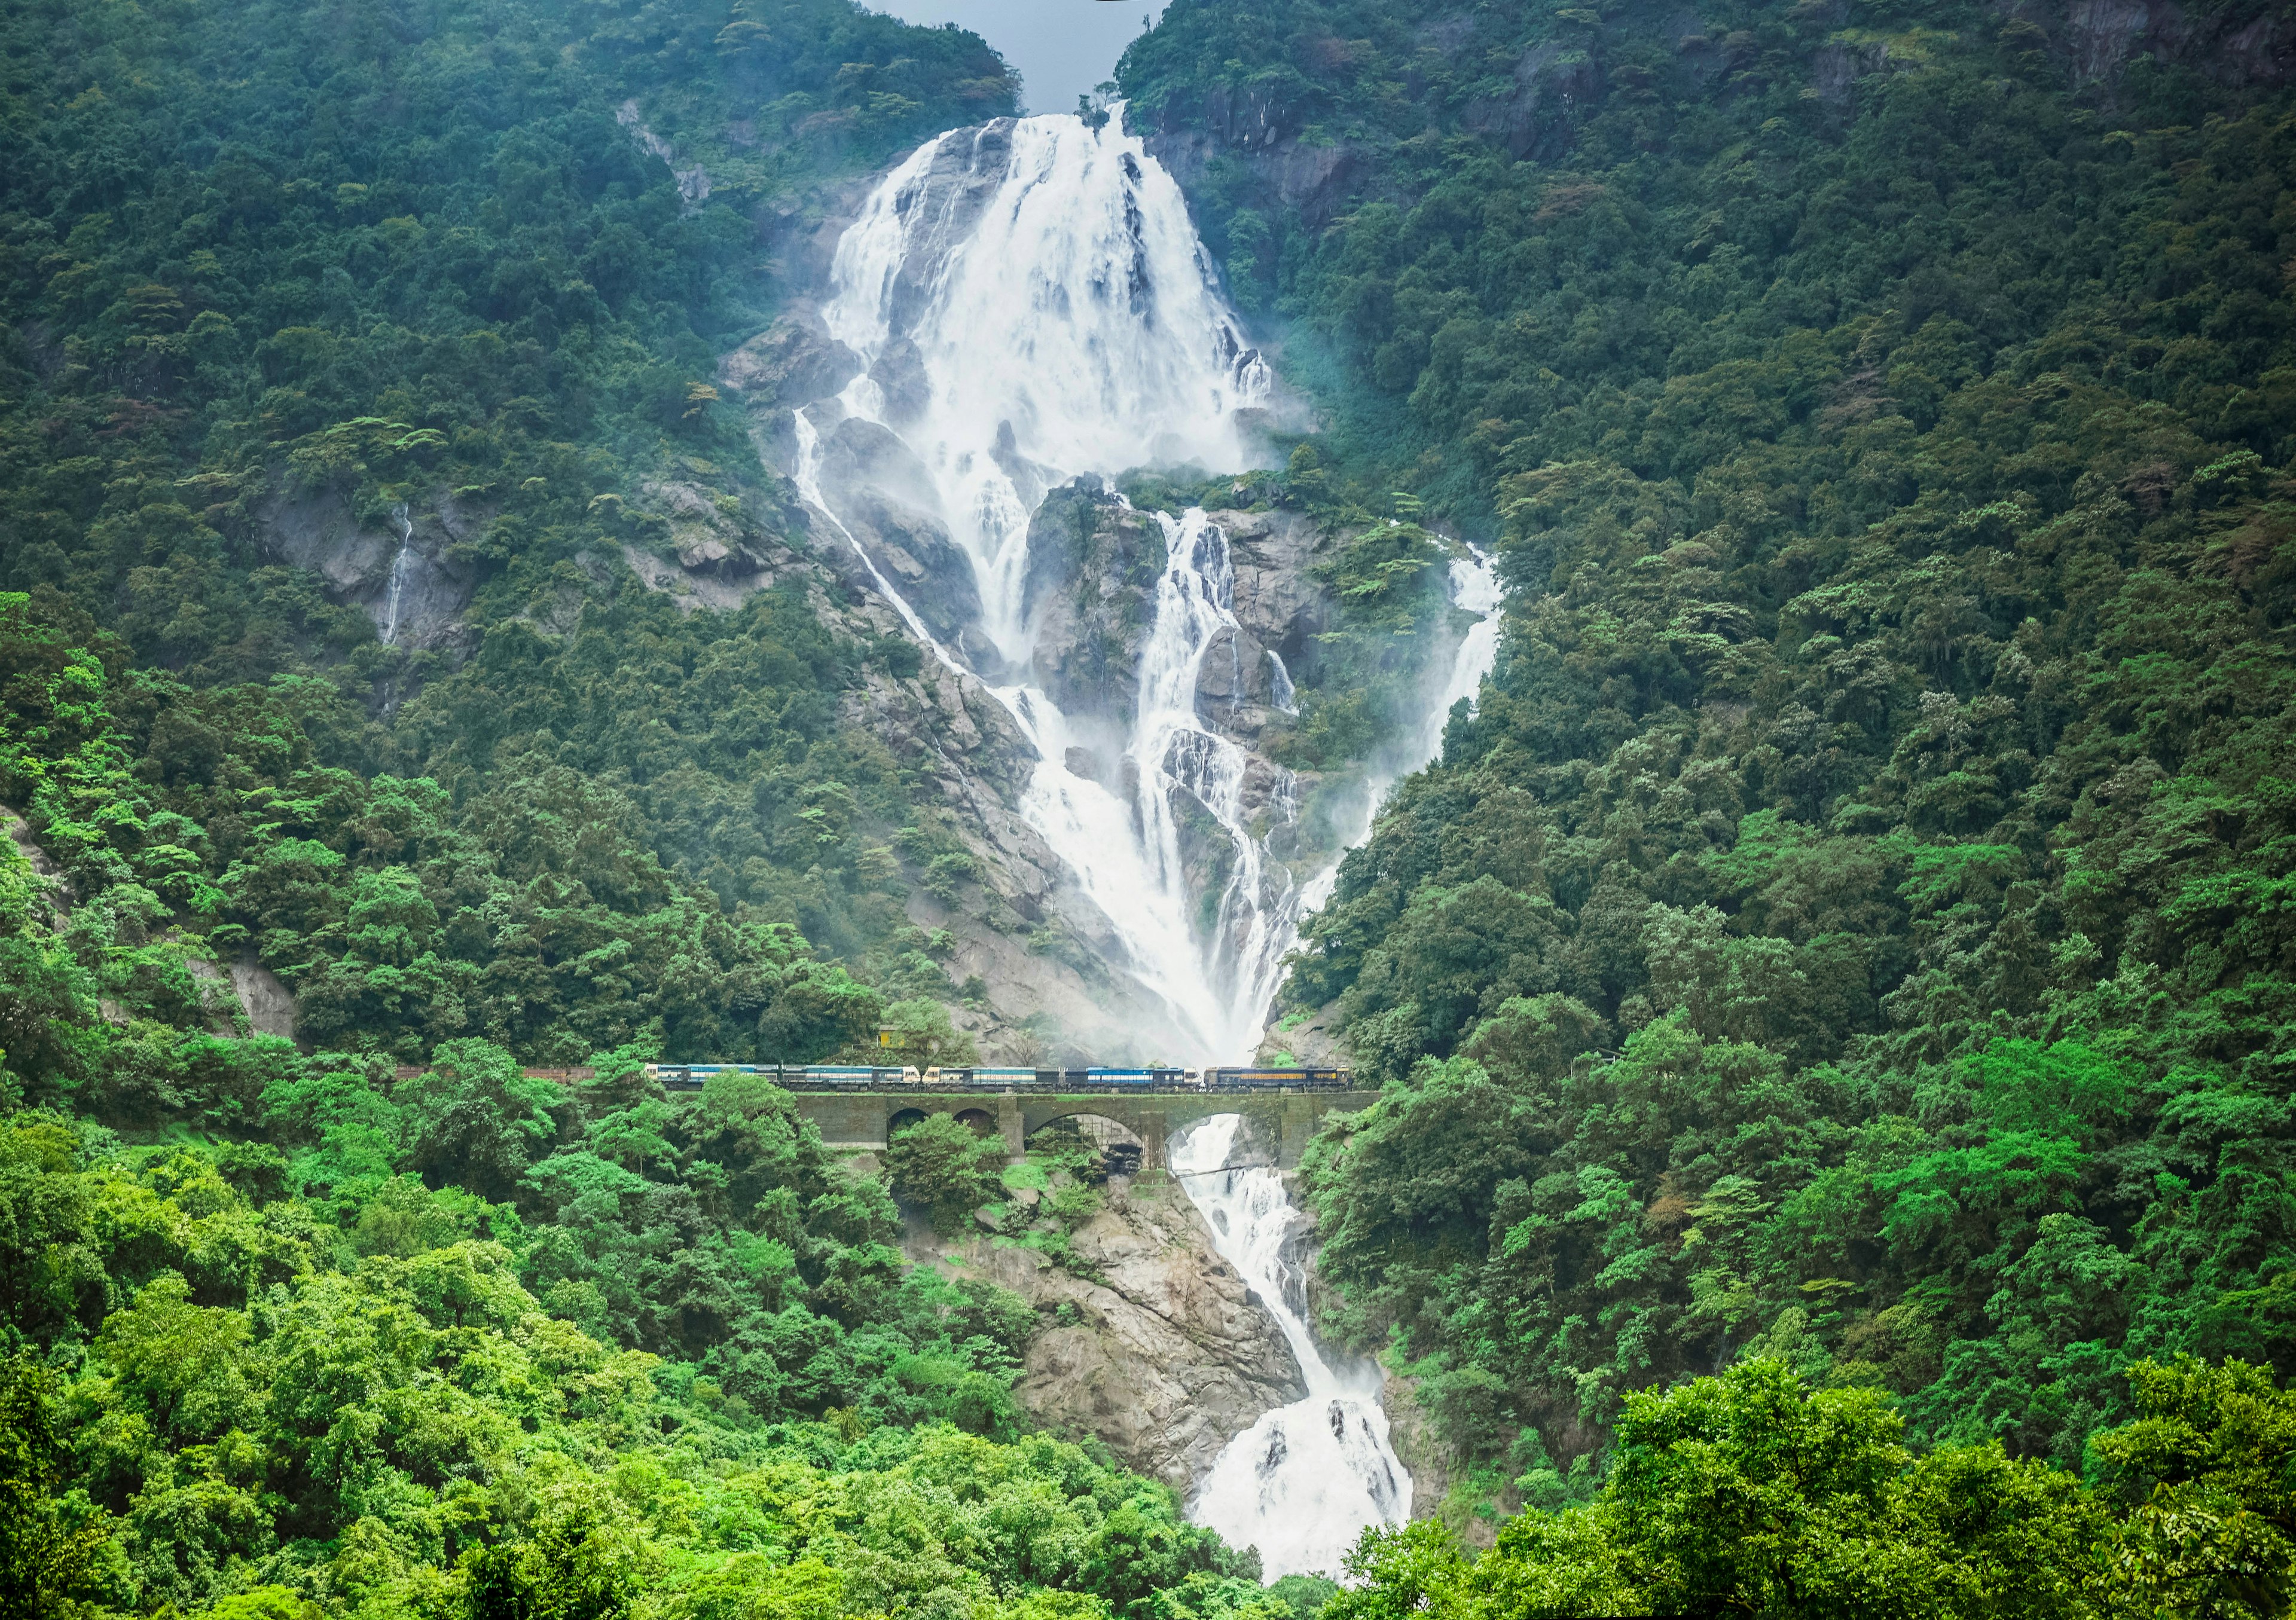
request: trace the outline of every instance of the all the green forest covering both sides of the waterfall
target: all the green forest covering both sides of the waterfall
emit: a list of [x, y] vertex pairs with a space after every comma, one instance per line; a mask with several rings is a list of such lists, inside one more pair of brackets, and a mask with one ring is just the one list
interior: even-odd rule
[[[719, 360], [996, 53], [0, 14], [0, 1613], [2285, 1620], [2296, 41], [2087, 11], [1173, 0], [1118, 67], [1318, 408], [1258, 493], [1357, 537], [1274, 753], [1364, 755], [1444, 546], [1508, 583], [1279, 1007], [1380, 1092], [1325, 1331], [1446, 1459], [1343, 1588], [1031, 1432], [1040, 1315], [898, 1246], [994, 1154], [641, 1069], [971, 994], [847, 718], [916, 647], [631, 560], [668, 486], [808, 548]], [[319, 500], [475, 514], [457, 640], [266, 548]]]

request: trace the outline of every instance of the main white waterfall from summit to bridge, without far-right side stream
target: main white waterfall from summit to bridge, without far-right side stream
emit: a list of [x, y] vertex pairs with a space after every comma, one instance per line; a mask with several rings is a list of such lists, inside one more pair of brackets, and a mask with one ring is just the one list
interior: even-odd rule
[[[955, 131], [914, 151], [838, 241], [822, 317], [863, 360], [838, 399], [923, 464], [980, 590], [992, 659], [960, 659], [870, 562], [912, 633], [953, 668], [985, 665], [1035, 743], [1022, 810], [1107, 913], [1127, 966], [1180, 1028], [1192, 1060], [1249, 1051], [1288, 941], [1288, 872], [1242, 819], [1244, 757], [1194, 714], [1212, 631], [1233, 629], [1226, 537], [1189, 512], [1164, 519], [1127, 794], [1068, 769], [1068, 716], [1026, 679], [1029, 516], [1079, 473], [1153, 461], [1251, 459], [1238, 413], [1265, 404], [1267, 367], [1221, 303], [1180, 188], [1111, 117], [1033, 117]], [[820, 484], [820, 425], [797, 420], [799, 491], [845, 537]], [[854, 542], [863, 560], [868, 551]], [[1182, 872], [1180, 796], [1228, 831], [1231, 877], [1199, 938]], [[1238, 964], [1244, 966], [1235, 973]]]

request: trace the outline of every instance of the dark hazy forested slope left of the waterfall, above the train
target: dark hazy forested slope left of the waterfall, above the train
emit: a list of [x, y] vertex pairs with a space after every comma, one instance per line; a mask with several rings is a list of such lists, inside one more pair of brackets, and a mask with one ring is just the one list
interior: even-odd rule
[[[682, 509], [801, 546], [709, 383], [769, 317], [765, 229], [1010, 96], [974, 34], [843, 0], [11, 7], [0, 590], [11, 640], [103, 665], [133, 785], [9, 799], [406, 1060], [739, 1056], [797, 932], [948, 994], [900, 913], [941, 833], [840, 718], [868, 642], [801, 583], [687, 615], [625, 558]], [[285, 567], [402, 509], [471, 599], [420, 647]]]

